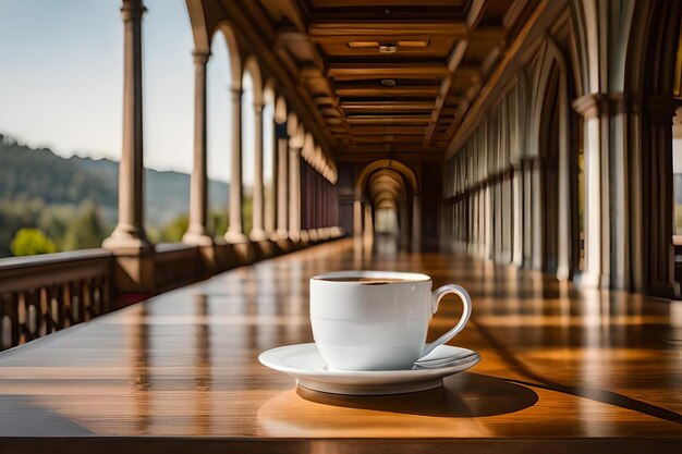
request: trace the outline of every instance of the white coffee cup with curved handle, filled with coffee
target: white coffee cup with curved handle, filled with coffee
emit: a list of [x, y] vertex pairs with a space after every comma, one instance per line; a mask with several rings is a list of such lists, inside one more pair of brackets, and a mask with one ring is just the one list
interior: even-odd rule
[[[428, 323], [440, 299], [453, 293], [464, 306], [454, 328], [430, 344]], [[310, 279], [313, 336], [334, 370], [400, 370], [459, 333], [472, 314], [468, 293], [448, 284], [431, 292], [426, 274], [336, 271]]]

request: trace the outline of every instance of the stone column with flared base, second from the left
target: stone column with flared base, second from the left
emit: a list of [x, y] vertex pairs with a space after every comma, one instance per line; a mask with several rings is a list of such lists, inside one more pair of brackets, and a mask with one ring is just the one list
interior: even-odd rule
[[183, 243], [210, 246], [214, 238], [206, 229], [206, 63], [209, 53], [194, 53], [194, 161], [190, 187], [190, 226]]

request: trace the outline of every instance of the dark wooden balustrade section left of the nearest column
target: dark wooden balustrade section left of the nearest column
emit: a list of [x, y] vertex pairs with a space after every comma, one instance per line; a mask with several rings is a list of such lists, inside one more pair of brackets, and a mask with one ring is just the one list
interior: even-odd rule
[[0, 349], [108, 312], [112, 275], [103, 249], [0, 260]]

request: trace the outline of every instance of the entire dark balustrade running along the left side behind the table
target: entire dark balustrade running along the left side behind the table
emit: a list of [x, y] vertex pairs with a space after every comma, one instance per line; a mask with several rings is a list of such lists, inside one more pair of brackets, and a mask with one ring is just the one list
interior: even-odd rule
[[0, 351], [230, 268], [319, 241], [339, 238], [343, 234], [339, 228], [329, 228], [315, 230], [309, 242], [284, 246], [275, 246], [275, 243], [272, 247], [254, 243], [217, 244], [210, 248], [212, 254], [208, 260], [196, 246], [157, 244], [154, 282], [150, 290], [143, 293], [125, 293], [117, 289], [117, 258], [106, 249], [1, 259]]

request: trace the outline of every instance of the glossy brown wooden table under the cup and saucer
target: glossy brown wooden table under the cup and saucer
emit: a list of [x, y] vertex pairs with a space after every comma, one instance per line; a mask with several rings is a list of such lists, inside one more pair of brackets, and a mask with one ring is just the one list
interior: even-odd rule
[[[682, 302], [334, 242], [163, 294], [0, 354], [0, 453], [682, 453]], [[441, 389], [295, 390], [260, 352], [312, 342], [307, 279], [422, 271], [474, 299]], [[429, 338], [455, 316], [442, 304]]]

